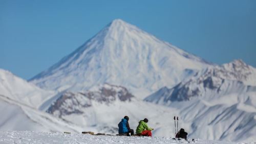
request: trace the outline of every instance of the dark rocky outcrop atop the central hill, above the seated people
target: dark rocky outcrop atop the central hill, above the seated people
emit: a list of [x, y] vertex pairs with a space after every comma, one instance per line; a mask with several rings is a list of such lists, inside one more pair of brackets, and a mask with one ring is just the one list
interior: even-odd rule
[[47, 110], [58, 117], [72, 113], [81, 114], [82, 108], [92, 106], [92, 101], [111, 104], [116, 100], [131, 101], [134, 96], [124, 87], [104, 84], [98, 91], [63, 93]]

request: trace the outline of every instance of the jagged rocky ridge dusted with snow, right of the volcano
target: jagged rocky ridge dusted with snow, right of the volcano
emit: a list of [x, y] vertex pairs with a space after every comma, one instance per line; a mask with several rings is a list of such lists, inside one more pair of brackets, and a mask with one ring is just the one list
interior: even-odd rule
[[[208, 67], [197, 72], [175, 87], [163, 87], [145, 98], [145, 101], [167, 103], [193, 97], [217, 97], [232, 93], [243, 94], [255, 90], [256, 69], [241, 60], [221, 66]], [[247, 85], [250, 84], [250, 85]]]

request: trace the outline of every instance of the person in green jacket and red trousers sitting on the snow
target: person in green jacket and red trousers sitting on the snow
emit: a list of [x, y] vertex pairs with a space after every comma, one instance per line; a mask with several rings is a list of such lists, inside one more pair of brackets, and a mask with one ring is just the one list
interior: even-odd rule
[[147, 126], [148, 120], [145, 118], [144, 120], [141, 120], [139, 122], [139, 125], [136, 129], [136, 133], [138, 135], [143, 135], [143, 136], [152, 136], [152, 130], [154, 130], [153, 128], [150, 128]]

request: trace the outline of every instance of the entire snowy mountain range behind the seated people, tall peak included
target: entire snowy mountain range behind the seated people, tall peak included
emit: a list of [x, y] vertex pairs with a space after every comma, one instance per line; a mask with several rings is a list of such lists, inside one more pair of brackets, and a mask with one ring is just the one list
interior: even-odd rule
[[190, 138], [256, 140], [255, 68], [208, 63], [120, 19], [29, 82], [0, 69], [0, 103], [0, 130], [114, 134], [127, 115], [173, 137], [178, 116]]

